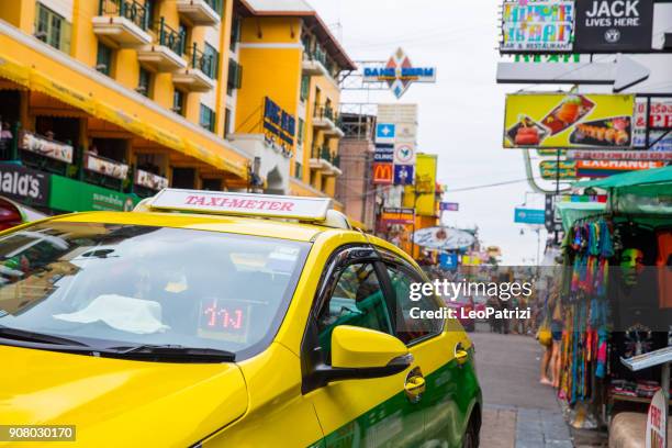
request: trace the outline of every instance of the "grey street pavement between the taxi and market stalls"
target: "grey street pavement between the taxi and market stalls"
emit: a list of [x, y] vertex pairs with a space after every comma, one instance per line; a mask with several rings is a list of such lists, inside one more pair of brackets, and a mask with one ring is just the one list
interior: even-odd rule
[[553, 390], [539, 383], [542, 348], [536, 339], [483, 332], [469, 336], [483, 389], [481, 447], [572, 448]]

